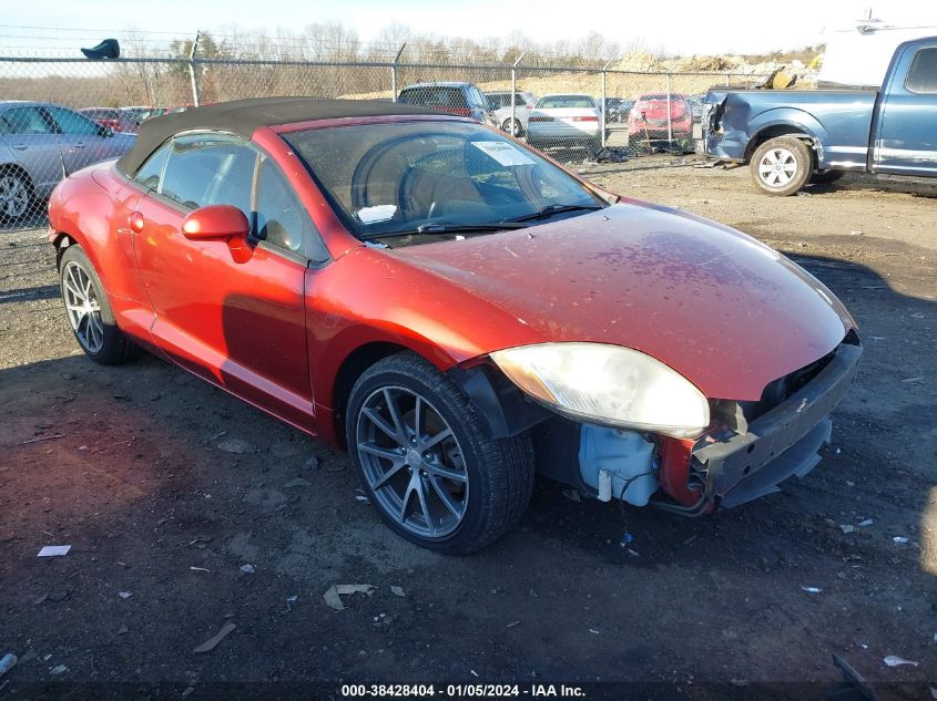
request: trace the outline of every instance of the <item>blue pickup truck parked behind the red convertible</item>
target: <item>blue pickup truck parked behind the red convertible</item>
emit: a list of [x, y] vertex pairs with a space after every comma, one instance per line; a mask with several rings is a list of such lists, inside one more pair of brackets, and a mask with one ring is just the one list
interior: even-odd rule
[[937, 37], [900, 44], [875, 90], [713, 89], [707, 156], [750, 164], [767, 195], [847, 172], [937, 177]]

